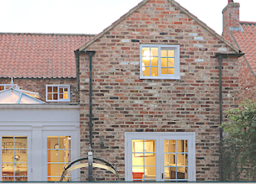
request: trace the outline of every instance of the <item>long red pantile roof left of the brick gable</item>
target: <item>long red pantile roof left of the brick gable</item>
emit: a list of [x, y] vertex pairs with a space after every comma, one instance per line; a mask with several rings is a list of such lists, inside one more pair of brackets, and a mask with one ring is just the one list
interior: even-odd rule
[[93, 35], [0, 33], [0, 78], [76, 78], [74, 50]]

